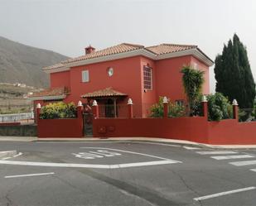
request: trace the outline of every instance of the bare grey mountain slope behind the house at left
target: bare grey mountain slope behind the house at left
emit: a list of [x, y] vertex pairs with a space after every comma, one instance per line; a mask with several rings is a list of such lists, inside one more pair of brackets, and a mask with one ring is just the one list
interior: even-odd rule
[[37, 88], [49, 85], [49, 74], [42, 67], [68, 59], [51, 50], [42, 50], [0, 36], [0, 82], [22, 83]]

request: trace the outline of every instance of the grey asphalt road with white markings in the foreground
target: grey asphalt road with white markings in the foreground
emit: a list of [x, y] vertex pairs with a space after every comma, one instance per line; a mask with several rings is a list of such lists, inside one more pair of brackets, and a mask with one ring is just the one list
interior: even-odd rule
[[10, 142], [0, 205], [255, 205], [256, 150], [152, 142]]

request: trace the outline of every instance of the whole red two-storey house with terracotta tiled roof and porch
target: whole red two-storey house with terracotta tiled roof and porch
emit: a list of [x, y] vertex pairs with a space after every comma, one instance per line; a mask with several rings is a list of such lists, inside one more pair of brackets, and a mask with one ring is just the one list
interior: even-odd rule
[[134, 116], [147, 117], [159, 96], [186, 103], [183, 65], [205, 71], [203, 93], [209, 93], [209, 66], [213, 61], [197, 46], [123, 43], [104, 50], [89, 46], [85, 55], [43, 68], [51, 76], [51, 87], [31, 98], [42, 105], [52, 101], [91, 103], [96, 99], [102, 117], [122, 117], [123, 105], [132, 98]]

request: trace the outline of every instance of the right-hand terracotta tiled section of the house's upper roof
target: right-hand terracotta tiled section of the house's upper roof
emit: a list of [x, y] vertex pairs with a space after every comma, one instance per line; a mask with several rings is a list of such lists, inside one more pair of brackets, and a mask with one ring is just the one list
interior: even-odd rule
[[195, 49], [197, 46], [194, 45], [174, 45], [174, 44], [162, 44], [157, 46], [146, 47], [147, 50], [154, 52], [157, 55], [163, 55], [167, 53], [177, 52], [181, 50]]

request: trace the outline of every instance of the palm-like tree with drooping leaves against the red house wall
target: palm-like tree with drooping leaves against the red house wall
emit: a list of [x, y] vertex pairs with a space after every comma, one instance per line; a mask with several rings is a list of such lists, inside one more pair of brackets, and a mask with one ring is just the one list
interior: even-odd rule
[[196, 114], [198, 99], [201, 96], [201, 90], [204, 79], [204, 71], [193, 69], [190, 66], [184, 66], [181, 69], [183, 87], [188, 100], [190, 116]]

